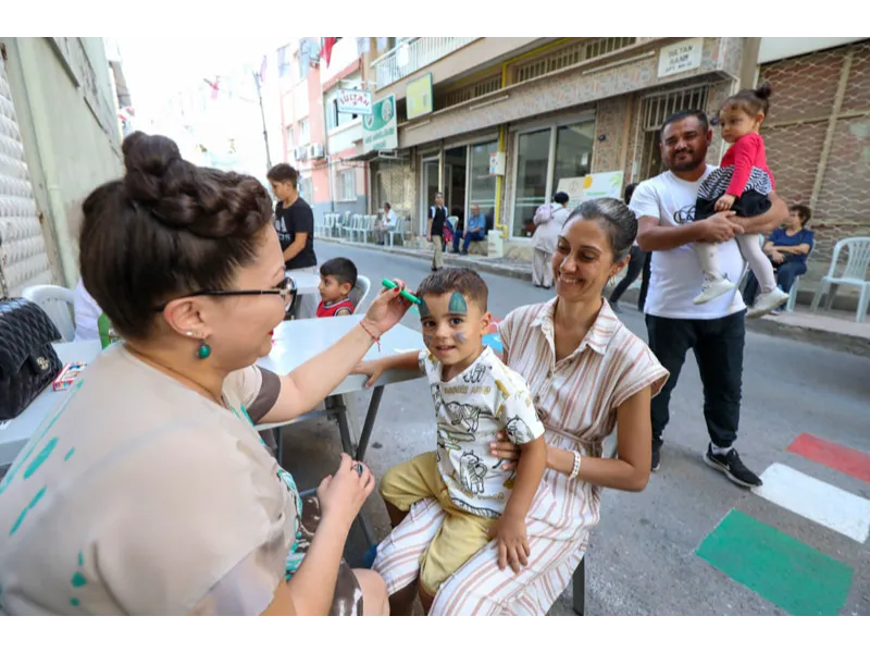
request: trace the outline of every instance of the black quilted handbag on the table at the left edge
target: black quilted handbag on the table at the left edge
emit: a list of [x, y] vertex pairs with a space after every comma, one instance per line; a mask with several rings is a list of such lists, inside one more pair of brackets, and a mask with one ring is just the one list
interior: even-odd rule
[[0, 420], [13, 419], [61, 373], [51, 343], [62, 340], [51, 318], [33, 301], [0, 299]]

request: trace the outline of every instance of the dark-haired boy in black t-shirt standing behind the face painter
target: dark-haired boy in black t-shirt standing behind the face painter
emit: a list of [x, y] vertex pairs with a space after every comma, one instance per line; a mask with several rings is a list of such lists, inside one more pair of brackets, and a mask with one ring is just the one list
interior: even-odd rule
[[[316, 272], [314, 254], [314, 212], [299, 196], [299, 173], [287, 163], [278, 163], [266, 173], [275, 205], [275, 230], [284, 250], [284, 267], [296, 272]], [[316, 295], [300, 295], [299, 318], [313, 318], [318, 309]]]

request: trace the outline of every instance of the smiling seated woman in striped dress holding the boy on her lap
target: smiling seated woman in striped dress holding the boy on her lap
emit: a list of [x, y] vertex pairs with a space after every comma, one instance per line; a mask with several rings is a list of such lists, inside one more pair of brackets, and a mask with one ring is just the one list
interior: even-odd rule
[[[556, 298], [518, 308], [499, 325], [504, 359], [525, 378], [547, 429], [547, 471], [526, 518], [531, 555], [519, 572], [501, 569], [490, 542], [442, 586], [431, 616], [545, 616], [583, 558], [601, 490], [646, 486], [649, 403], [668, 371], [601, 297], [629, 262], [636, 234], [635, 215], [623, 202], [584, 202], [554, 251]], [[604, 440], [614, 427], [619, 457], [605, 459]], [[507, 440], [494, 453], [506, 465], [519, 458]], [[391, 605], [415, 595], [420, 556], [443, 520], [437, 501], [419, 502], [378, 546], [374, 569]]]

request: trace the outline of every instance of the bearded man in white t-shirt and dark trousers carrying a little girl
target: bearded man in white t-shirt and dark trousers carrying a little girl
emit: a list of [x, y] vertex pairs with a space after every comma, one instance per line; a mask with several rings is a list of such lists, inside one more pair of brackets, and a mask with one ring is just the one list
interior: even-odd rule
[[637, 243], [655, 251], [649, 291], [644, 306], [649, 346], [671, 373], [652, 398], [652, 469], [659, 468], [662, 434], [669, 420], [671, 392], [688, 349], [695, 352], [704, 384], [704, 417], [710, 445], [704, 460], [734, 483], [755, 488], [761, 479], [749, 470], [734, 448], [739, 427], [746, 305], [737, 288], [706, 304], [693, 298], [704, 282], [692, 243], [719, 243], [722, 271], [739, 280], [744, 261], [736, 234], [769, 233], [788, 214], [785, 202], [771, 194], [771, 209], [755, 218], [723, 211], [693, 222], [701, 182], [716, 170], [705, 163], [712, 132], [707, 115], [680, 111], [661, 128], [661, 160], [668, 171], [642, 182], [631, 208], [637, 214]]

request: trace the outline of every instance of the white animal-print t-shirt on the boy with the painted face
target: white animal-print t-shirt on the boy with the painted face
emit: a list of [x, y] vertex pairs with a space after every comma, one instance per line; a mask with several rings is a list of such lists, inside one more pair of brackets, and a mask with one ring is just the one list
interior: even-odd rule
[[442, 381], [442, 364], [426, 349], [420, 353], [420, 369], [435, 402], [438, 467], [450, 498], [467, 513], [497, 519], [515, 471], [501, 469], [505, 461], [489, 453], [489, 443], [499, 431], [518, 445], [544, 433], [525, 381], [489, 347], [451, 381]]

